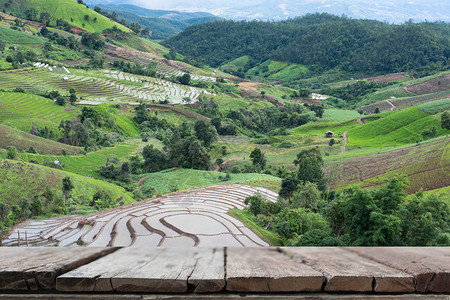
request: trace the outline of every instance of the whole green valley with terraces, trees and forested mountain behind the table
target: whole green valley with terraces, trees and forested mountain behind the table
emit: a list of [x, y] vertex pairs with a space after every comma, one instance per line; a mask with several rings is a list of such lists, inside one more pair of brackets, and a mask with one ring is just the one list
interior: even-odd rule
[[450, 245], [448, 23], [220, 20], [159, 44], [38, 2], [0, 0], [3, 246]]

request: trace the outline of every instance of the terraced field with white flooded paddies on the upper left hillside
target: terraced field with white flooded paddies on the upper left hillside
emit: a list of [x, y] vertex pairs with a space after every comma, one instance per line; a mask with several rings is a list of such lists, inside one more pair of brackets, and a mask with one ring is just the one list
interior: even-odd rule
[[6, 89], [22, 87], [26, 90], [58, 90], [68, 94], [71, 88], [84, 101], [80, 104], [158, 102], [169, 100], [180, 104], [189, 97], [192, 102], [206, 92], [194, 87], [175, 84], [163, 79], [105, 71], [102, 75], [70, 73], [52, 66], [39, 66], [36, 70], [0, 72], [0, 86]]

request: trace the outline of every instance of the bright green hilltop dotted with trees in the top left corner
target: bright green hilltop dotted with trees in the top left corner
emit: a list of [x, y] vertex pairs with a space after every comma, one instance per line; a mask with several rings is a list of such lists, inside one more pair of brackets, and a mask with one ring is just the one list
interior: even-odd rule
[[7, 13], [35, 21], [40, 21], [41, 13], [47, 12], [50, 14], [50, 26], [56, 26], [56, 21], [63, 19], [73, 27], [90, 32], [101, 32], [113, 26], [122, 31], [129, 31], [123, 25], [111, 21], [75, 0], [0, 0], [0, 8]]

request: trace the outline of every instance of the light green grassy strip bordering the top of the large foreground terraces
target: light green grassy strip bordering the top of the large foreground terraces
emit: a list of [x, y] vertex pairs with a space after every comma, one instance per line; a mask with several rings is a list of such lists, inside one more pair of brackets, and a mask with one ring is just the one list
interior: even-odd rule
[[155, 195], [163, 195], [180, 190], [209, 186], [214, 184], [242, 183], [254, 186], [263, 186], [277, 190], [281, 179], [264, 174], [231, 174], [231, 180], [222, 182], [219, 176], [225, 173], [212, 171], [199, 171], [191, 169], [169, 169], [157, 173], [139, 176], [145, 177], [142, 188], [152, 188]]

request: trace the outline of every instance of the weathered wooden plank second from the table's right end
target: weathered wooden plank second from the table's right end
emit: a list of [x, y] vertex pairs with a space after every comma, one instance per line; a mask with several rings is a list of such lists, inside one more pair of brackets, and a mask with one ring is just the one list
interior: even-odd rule
[[414, 292], [414, 277], [343, 248], [282, 248], [295, 261], [323, 272], [325, 291]]

